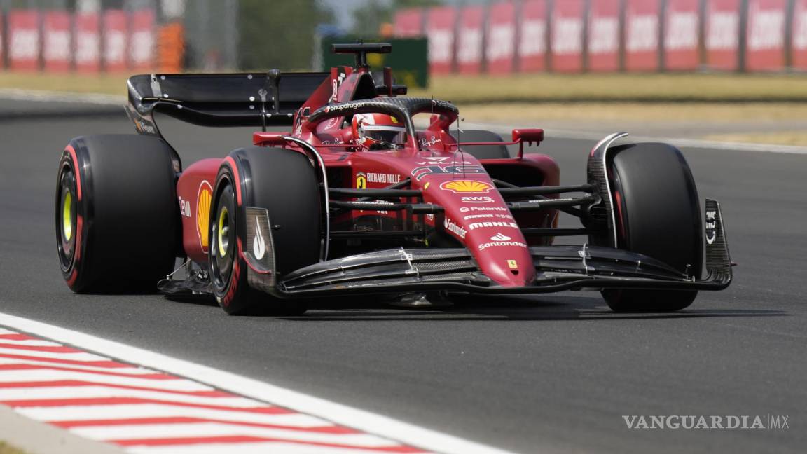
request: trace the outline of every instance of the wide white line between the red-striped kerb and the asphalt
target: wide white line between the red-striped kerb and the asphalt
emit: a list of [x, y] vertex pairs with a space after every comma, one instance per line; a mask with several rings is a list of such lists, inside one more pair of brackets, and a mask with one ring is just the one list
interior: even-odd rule
[[[225, 389], [245, 397], [253, 397], [259, 401], [267, 401], [274, 405], [285, 406], [291, 410], [311, 414], [312, 416], [324, 418], [346, 427], [353, 427], [360, 431], [365, 431], [371, 435], [380, 435], [419, 448], [457, 454], [504, 454], [506, 452], [453, 435], [445, 435], [424, 427], [417, 427], [408, 422], [398, 421], [380, 414], [358, 410], [320, 397], [309, 396], [291, 389], [270, 385], [260, 380], [239, 376], [232, 372], [220, 371], [215, 368], [203, 366], [202, 364], [172, 358], [167, 355], [132, 347], [123, 343], [117, 343], [105, 338], [98, 338], [79, 331], [68, 330], [59, 326], [52, 326], [47, 323], [36, 322], [6, 313], [0, 313], [0, 325], [36, 334], [44, 338], [50, 338], [88, 351], [95, 351], [102, 355], [109, 355], [126, 362], [142, 364], [148, 368], [154, 368], [192, 380], [198, 380], [199, 382], [219, 389]], [[18, 411], [23, 414], [31, 414], [31, 416], [35, 413], [39, 413], [40, 416], [46, 416], [46, 418], [37, 417], [37, 419], [40, 420], [74, 418], [75, 414], [73, 413], [71, 415], [69, 411], [67, 413], [57, 414], [58, 412], [63, 412], [68, 409], [69, 407], [20, 408]], [[98, 410], [104, 411], [111, 409], [107, 406], [106, 408], [99, 408]], [[199, 410], [194, 410], [194, 412], [199, 414]], [[226, 413], [232, 414], [235, 412]], [[285, 415], [261, 416], [282, 417]], [[104, 417], [108, 418], [109, 416]], [[127, 414], [126, 417], [131, 418], [132, 416], [131, 414]], [[96, 415], [95, 418], [102, 418], [102, 416]], [[174, 451], [166, 449], [166, 452]]]

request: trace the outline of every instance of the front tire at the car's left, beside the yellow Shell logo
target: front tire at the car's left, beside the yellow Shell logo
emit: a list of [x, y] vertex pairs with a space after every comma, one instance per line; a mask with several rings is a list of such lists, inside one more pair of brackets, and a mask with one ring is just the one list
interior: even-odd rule
[[210, 217], [211, 287], [228, 314], [268, 312], [296, 315], [300, 301], [284, 300], [251, 288], [246, 208], [266, 208], [272, 225], [275, 278], [320, 260], [322, 228], [319, 181], [308, 158], [290, 149], [236, 149], [215, 180]]

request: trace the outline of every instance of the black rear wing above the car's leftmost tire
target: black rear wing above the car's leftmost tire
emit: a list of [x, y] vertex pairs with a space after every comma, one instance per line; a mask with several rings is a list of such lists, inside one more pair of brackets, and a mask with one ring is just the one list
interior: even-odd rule
[[[160, 136], [154, 112], [201, 126], [291, 125], [329, 73], [140, 74], [126, 111], [137, 131]], [[277, 102], [275, 100], [277, 99]]]

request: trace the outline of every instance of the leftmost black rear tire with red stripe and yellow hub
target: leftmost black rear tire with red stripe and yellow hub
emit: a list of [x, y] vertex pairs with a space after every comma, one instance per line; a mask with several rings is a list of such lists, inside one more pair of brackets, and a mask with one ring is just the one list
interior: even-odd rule
[[56, 250], [77, 293], [156, 292], [178, 250], [174, 150], [156, 137], [76, 137], [56, 178]]

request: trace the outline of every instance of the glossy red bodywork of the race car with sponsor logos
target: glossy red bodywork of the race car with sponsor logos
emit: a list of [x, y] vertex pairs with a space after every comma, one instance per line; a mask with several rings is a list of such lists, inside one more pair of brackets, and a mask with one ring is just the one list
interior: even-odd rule
[[[553, 227], [557, 211], [552, 208], [513, 215], [495, 187], [496, 175], [507, 175], [522, 186], [555, 186], [559, 170], [552, 158], [543, 154], [519, 153], [519, 157], [478, 160], [462, 149], [449, 133], [456, 116], [432, 116], [429, 126], [418, 130], [417, 137], [397, 150], [360, 151], [353, 146], [349, 124], [342, 118], [312, 123], [307, 113], [328, 103], [355, 100], [357, 87], [366, 69], [340, 67], [315, 90], [295, 116], [292, 132], [255, 132], [255, 145], [283, 146], [282, 135], [307, 141], [320, 153], [330, 187], [375, 189], [411, 180], [408, 187], [419, 189], [424, 203], [445, 208], [442, 214], [412, 215], [406, 211], [353, 211], [334, 217], [331, 225], [340, 230], [366, 229], [370, 221], [391, 225], [392, 229], [411, 229], [422, 222], [437, 233], [454, 238], [474, 255], [479, 269], [501, 286], [525, 286], [535, 279], [533, 258], [528, 246], [548, 245], [552, 238], [525, 238], [522, 228]], [[427, 112], [428, 116], [428, 112]], [[538, 130], [516, 130], [513, 142], [521, 137], [537, 140]], [[414, 140], [412, 140], [414, 139]], [[462, 135], [460, 134], [462, 140]], [[299, 149], [298, 149], [299, 150]], [[300, 150], [302, 153], [302, 150]], [[271, 153], [271, 148], [267, 148]], [[206, 232], [212, 185], [224, 159], [204, 159], [187, 167], [178, 181], [182, 212], [183, 245], [194, 262], [207, 263]], [[293, 195], [278, 195], [288, 197]], [[360, 227], [364, 225], [364, 227]], [[424, 243], [428, 247], [428, 241]], [[328, 259], [337, 256], [331, 254]]]

